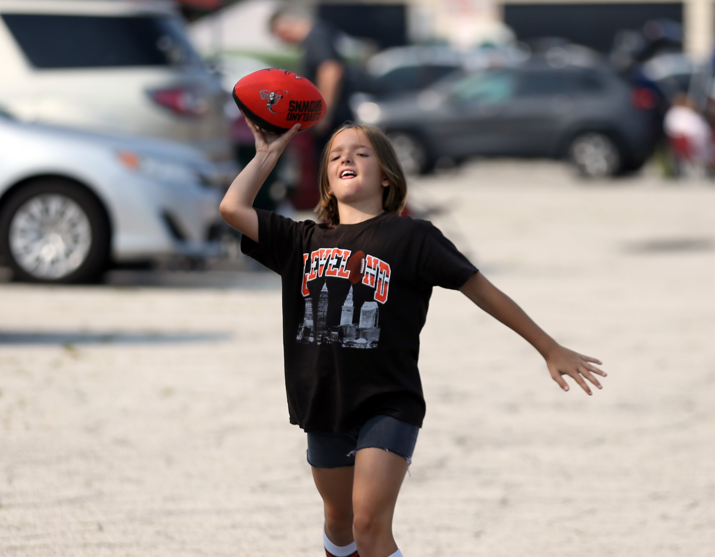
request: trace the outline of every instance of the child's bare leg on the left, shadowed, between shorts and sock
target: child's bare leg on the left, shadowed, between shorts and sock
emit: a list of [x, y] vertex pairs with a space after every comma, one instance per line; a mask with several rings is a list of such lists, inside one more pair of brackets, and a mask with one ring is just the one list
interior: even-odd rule
[[325, 535], [336, 546], [352, 543], [352, 475], [354, 466], [312, 467], [315, 487], [325, 508]]

